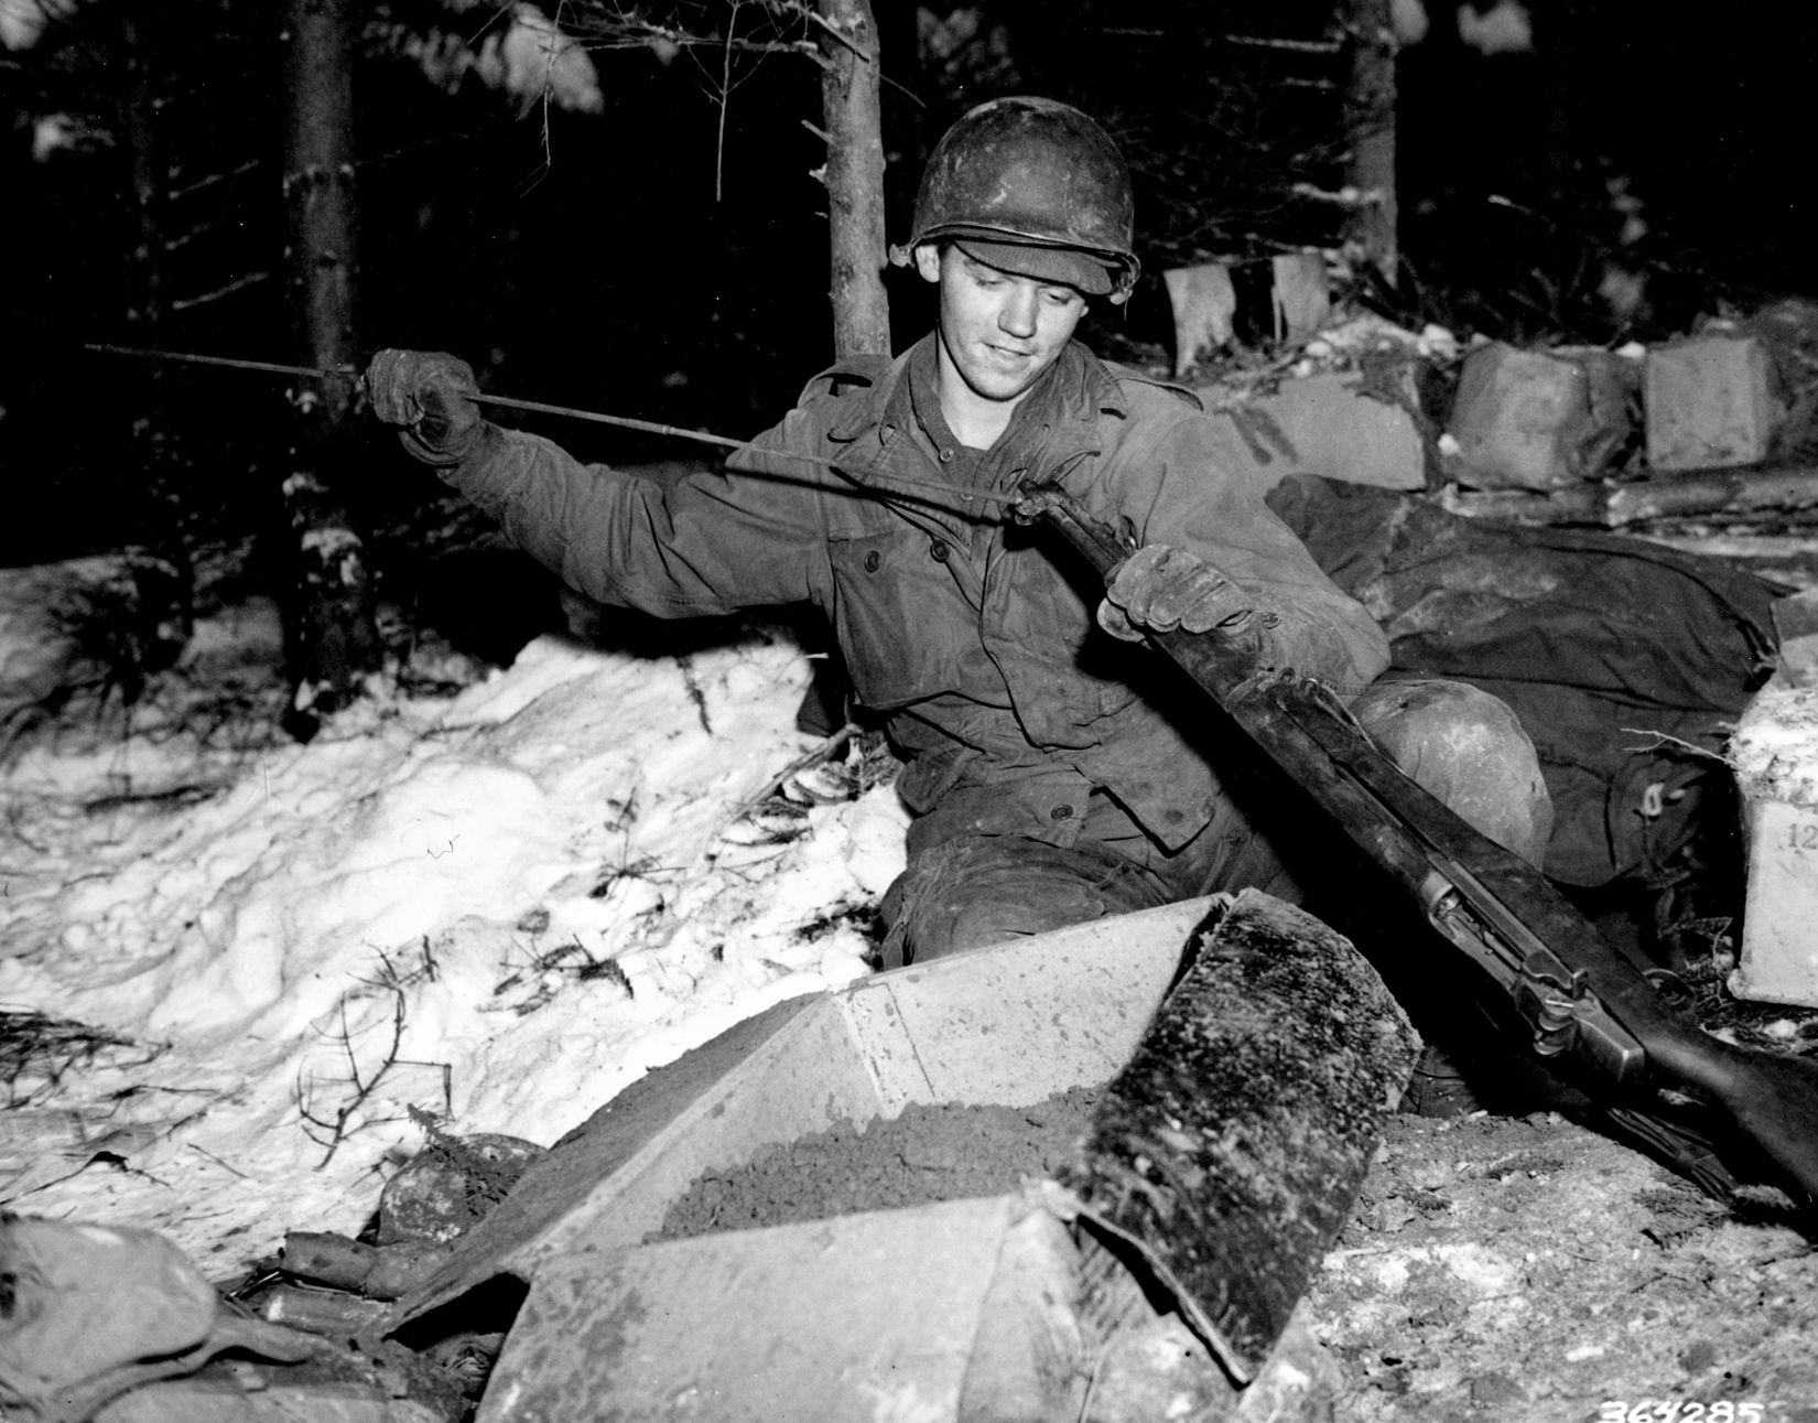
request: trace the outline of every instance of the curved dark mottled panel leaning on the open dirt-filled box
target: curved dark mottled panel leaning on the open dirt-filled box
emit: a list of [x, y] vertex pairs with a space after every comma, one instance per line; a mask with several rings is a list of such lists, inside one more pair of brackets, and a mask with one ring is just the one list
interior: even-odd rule
[[1249, 1379], [1351, 1217], [1416, 1052], [1349, 941], [1245, 893], [1204, 935], [1060, 1179], [1142, 1248]]

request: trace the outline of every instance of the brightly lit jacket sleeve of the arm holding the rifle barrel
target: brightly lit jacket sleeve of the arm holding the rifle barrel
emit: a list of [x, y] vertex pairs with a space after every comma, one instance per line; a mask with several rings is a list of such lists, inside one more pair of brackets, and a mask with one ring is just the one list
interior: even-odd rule
[[1136, 422], [1094, 479], [1094, 500], [1125, 533], [1196, 553], [1251, 595], [1264, 666], [1296, 668], [1345, 695], [1389, 666], [1382, 628], [1325, 577], [1264, 502], [1258, 480], [1233, 468], [1213, 417]]

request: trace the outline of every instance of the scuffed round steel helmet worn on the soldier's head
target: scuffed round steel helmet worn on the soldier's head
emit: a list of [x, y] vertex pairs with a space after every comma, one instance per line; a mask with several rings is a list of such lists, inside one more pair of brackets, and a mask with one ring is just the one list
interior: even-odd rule
[[1067, 282], [1122, 302], [1140, 266], [1124, 155], [1096, 122], [1053, 98], [993, 98], [934, 146], [914, 200], [914, 235], [956, 240], [987, 266]]

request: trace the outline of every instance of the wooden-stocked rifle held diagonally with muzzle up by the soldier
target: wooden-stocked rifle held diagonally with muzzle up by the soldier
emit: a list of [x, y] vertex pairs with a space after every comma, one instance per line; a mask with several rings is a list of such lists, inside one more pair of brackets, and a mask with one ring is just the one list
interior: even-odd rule
[[[1014, 513], [1058, 531], [1107, 582], [1133, 551], [1058, 484], [1025, 486]], [[1545, 875], [1407, 777], [1322, 682], [1258, 673], [1214, 635], [1145, 637], [1411, 895], [1542, 1066], [1571, 1065], [1618, 1128], [1714, 1196], [1734, 1177], [1700, 1132], [1660, 1115], [1662, 1090], [1714, 1108], [1796, 1206], [1818, 1201], [1818, 1063], [1725, 1043], [1667, 1004]]]

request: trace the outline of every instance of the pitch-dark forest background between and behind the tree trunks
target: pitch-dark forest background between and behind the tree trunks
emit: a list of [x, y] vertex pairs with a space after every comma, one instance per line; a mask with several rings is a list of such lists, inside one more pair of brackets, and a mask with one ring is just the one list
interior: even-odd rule
[[[185, 540], [238, 537], [273, 517], [284, 378], [82, 348], [298, 360], [282, 9], [85, 0], [33, 47], [0, 53], [13, 113], [0, 149], [0, 469], [13, 502], [0, 560], [113, 548], [173, 519]], [[1307, 189], [1344, 180], [1342, 11], [876, 0], [889, 233], [905, 235], [922, 156], [967, 106], [1018, 91], [1076, 102], [1131, 158], [1145, 267], [1129, 308], [1085, 335], [1107, 355], [1167, 362], [1165, 267], [1336, 242], [1342, 211]], [[720, 49], [624, 40], [613, 25], [627, 13], [562, 13], [594, 36], [602, 104], [580, 113], [471, 71], [425, 76], [424, 36], [478, 44], [498, 24], [489, 5], [364, 7], [358, 329], [367, 349], [456, 351], [498, 393], [749, 435], [831, 358], [824, 146], [807, 127], [820, 122], [820, 71], [793, 53], [740, 53], [720, 93]], [[758, 0], [669, 13], [707, 40], [727, 24], [791, 33], [789, 7]], [[1811, 184], [1794, 142], [1809, 126], [1818, 16], [1742, 4], [1693, 24], [1616, 0], [1533, 0], [1527, 13], [1527, 51], [1480, 53], [1438, 5], [1402, 51], [1403, 266], [1394, 289], [1362, 300], [1462, 337], [1618, 342], [1811, 289]], [[142, 122], [160, 158], [149, 295], [124, 142], [135, 95], [151, 98]], [[931, 308], [907, 273], [887, 280], [900, 346]], [[545, 428], [613, 462], [700, 453]], [[149, 459], [175, 479], [147, 479]], [[344, 459], [331, 473], [375, 522], [427, 493], [382, 431]]]

